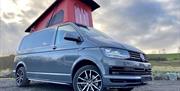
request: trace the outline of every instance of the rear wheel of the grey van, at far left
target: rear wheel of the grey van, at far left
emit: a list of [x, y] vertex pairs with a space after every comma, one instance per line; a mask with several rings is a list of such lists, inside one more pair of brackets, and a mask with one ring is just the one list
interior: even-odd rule
[[20, 67], [16, 70], [16, 85], [18, 87], [24, 87], [29, 85], [30, 81], [27, 78], [26, 71], [24, 67]]

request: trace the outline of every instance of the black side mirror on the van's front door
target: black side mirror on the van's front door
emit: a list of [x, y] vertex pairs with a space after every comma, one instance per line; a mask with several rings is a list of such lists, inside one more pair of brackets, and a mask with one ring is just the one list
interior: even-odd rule
[[67, 32], [65, 33], [64, 39], [69, 41], [81, 42], [80, 36], [77, 35], [76, 33]]

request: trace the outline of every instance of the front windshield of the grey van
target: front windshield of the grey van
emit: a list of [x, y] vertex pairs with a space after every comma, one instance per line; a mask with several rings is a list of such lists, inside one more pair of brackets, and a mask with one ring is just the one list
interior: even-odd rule
[[109, 36], [107, 36], [105, 33], [98, 31], [94, 28], [85, 28], [85, 27], [79, 27], [80, 31], [83, 32], [85, 35], [89, 37], [100, 37], [100, 38], [108, 38], [110, 39]]

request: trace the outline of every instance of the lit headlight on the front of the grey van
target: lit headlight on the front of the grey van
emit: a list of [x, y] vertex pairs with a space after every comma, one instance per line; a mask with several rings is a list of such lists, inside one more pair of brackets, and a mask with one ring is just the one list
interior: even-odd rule
[[127, 59], [130, 58], [129, 52], [116, 48], [101, 48], [107, 57]]

